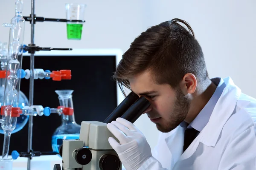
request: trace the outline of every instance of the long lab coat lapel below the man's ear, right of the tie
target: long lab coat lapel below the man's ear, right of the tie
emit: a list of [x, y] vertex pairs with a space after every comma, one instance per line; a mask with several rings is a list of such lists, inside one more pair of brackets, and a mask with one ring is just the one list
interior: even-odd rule
[[[180, 156], [179, 161], [188, 159], [190, 156], [192, 156], [200, 142], [206, 144], [209, 147], [215, 147], [221, 130], [224, 124], [227, 122], [228, 118], [233, 113], [236, 107], [236, 102], [238, 101], [241, 94], [241, 90], [233, 84], [233, 81], [230, 77], [225, 79], [224, 83], [226, 83], [227, 86], [224, 88], [221, 97], [216, 103], [209, 122], [201, 131], [201, 133], [199, 133], [199, 135], [195, 138], [195, 140], [189, 145], [185, 152]], [[213, 127], [214, 130], [212, 130]]]

